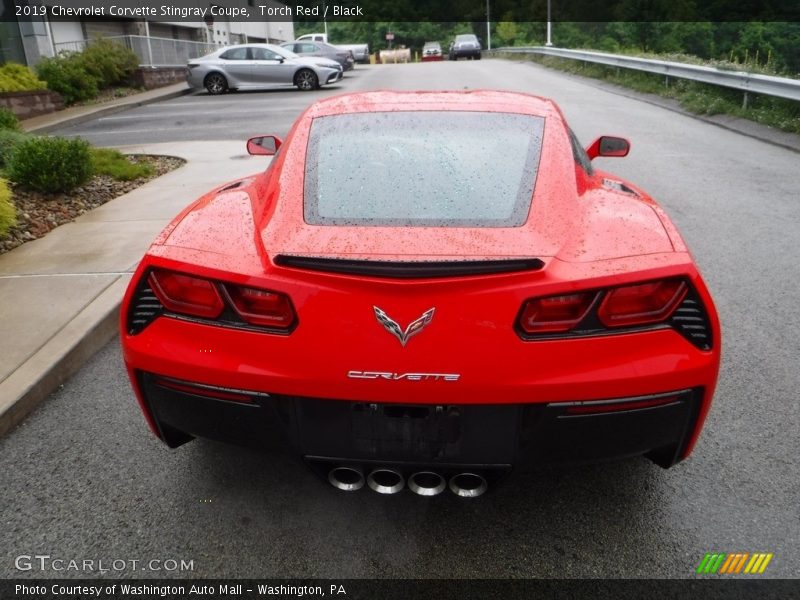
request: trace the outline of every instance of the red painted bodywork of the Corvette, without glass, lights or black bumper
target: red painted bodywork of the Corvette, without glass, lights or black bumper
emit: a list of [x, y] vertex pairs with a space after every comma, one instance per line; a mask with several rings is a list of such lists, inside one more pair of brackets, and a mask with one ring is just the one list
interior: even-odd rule
[[[522, 226], [304, 221], [306, 147], [315, 118], [429, 110], [545, 118], [533, 201]], [[278, 255], [378, 262], [536, 257], [543, 266], [477, 277], [387, 279], [279, 266]], [[286, 294], [297, 322], [290, 333], [276, 334], [161, 316], [131, 334], [127, 319], [137, 285], [154, 268]], [[690, 284], [705, 308], [708, 349], [671, 327], [542, 339], [524, 339], [518, 331], [529, 298], [675, 277]], [[424, 332], [402, 345], [376, 322], [373, 307], [401, 329], [433, 307], [436, 312]], [[692, 451], [708, 413], [721, 344], [708, 290], [659, 206], [619, 178], [577, 167], [554, 104], [489, 91], [377, 92], [316, 103], [265, 172], [210, 192], [162, 232], [134, 274], [122, 329], [134, 389], [161, 437], [138, 373], [291, 397], [432, 406], [549, 405], [700, 390], [675, 460]]]

